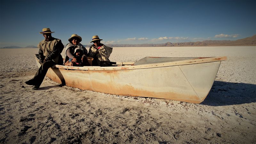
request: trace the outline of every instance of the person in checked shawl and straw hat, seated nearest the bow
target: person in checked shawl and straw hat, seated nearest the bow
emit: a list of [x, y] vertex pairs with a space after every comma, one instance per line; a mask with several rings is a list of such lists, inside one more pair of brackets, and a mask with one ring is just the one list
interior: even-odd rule
[[113, 48], [100, 43], [101, 40], [98, 35], [92, 36], [93, 45], [89, 48], [87, 57], [93, 58], [93, 66], [111, 66], [109, 56]]

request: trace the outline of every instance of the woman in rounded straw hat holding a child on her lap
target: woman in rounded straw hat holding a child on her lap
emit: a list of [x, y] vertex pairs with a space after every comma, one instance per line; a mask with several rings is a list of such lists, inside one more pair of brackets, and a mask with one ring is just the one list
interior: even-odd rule
[[81, 36], [77, 35], [77, 34], [72, 34], [71, 37], [68, 39], [69, 43], [66, 46], [66, 52], [65, 52], [65, 60], [64, 60], [64, 65], [66, 65], [65, 63], [70, 59], [72, 59], [72, 62], [78, 62], [80, 60], [77, 59], [76, 55], [75, 55], [75, 49], [81, 49], [83, 56], [81, 58], [82, 63], [84, 65], [89, 65], [87, 58], [86, 58], [86, 54], [87, 54], [87, 50], [85, 49], [85, 47], [80, 43], [82, 41]]

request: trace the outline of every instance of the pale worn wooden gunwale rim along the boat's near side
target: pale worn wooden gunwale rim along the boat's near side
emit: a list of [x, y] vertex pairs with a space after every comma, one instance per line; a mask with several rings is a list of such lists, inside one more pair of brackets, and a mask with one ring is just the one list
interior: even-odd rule
[[[35, 54], [36, 57], [36, 54]], [[155, 64], [141, 64], [141, 65], [125, 65], [125, 66], [66, 66], [66, 65], [53, 65], [55, 68], [69, 69], [69, 70], [96, 70], [96, 71], [109, 71], [109, 70], [133, 70], [133, 69], [146, 69], [146, 68], [158, 68], [158, 67], [167, 67], [167, 66], [177, 66], [177, 65], [188, 65], [188, 64], [200, 64], [200, 63], [209, 63], [216, 61], [225, 61], [227, 60], [226, 56], [223, 57], [195, 57], [196, 59], [188, 59], [174, 62], [164, 62], [164, 63], [155, 63]], [[39, 62], [39, 59], [36, 57], [36, 60]]]

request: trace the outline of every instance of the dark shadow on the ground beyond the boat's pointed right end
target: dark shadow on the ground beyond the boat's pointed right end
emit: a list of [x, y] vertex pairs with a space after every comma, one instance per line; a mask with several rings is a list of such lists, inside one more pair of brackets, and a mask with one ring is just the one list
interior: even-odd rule
[[256, 102], [256, 85], [214, 81], [212, 88], [200, 104], [225, 106]]

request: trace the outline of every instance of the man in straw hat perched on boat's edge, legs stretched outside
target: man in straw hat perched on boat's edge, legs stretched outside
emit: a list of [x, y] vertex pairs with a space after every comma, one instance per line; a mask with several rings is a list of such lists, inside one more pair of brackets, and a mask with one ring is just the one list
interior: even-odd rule
[[50, 28], [43, 28], [40, 34], [43, 34], [44, 40], [39, 42], [37, 47], [39, 48], [38, 58], [41, 64], [40, 68], [36, 72], [35, 76], [26, 81], [28, 85], [33, 85], [32, 89], [36, 90], [42, 84], [46, 72], [50, 67], [55, 64], [62, 64], [63, 59], [60, 53], [62, 52], [64, 46], [60, 39], [52, 37], [52, 32]]

